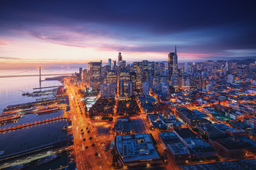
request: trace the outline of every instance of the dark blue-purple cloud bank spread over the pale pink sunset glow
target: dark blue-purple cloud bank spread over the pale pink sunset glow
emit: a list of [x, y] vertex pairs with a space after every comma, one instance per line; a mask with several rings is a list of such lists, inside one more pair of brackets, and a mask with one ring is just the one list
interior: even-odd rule
[[[169, 52], [178, 45], [180, 52], [225, 56], [226, 50], [256, 49], [255, 16], [250, 1], [0, 2], [0, 30], [26, 30], [75, 47], [92, 45], [87, 39], [93, 37], [112, 38], [115, 43], [95, 47], [128, 52]], [[85, 40], [58, 33], [63, 28]]]

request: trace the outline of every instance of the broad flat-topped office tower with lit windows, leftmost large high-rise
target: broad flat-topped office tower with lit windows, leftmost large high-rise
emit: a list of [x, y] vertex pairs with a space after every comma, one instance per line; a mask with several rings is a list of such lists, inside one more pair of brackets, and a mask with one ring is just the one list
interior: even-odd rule
[[102, 61], [88, 63], [89, 83], [90, 88], [100, 90], [102, 81]]

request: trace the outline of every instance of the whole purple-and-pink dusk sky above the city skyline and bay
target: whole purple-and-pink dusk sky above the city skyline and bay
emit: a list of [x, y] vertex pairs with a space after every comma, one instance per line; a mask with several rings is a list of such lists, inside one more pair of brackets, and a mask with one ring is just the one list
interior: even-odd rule
[[253, 1], [0, 1], [0, 67], [256, 56]]

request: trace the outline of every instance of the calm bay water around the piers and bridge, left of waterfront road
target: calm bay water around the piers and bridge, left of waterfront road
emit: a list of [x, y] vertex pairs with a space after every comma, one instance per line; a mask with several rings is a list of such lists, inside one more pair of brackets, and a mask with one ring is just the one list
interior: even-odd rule
[[[63, 70], [51, 70], [45, 71], [42, 69], [42, 74], [63, 74], [63, 73], [74, 73], [78, 72], [78, 69], [63, 69]], [[37, 70], [32, 72], [28, 70], [0, 70], [0, 76], [3, 75], [19, 75], [19, 74], [38, 74]], [[55, 77], [55, 76], [48, 76]], [[41, 77], [42, 80], [46, 77]], [[59, 81], [43, 81], [41, 86], [58, 86], [62, 85]], [[28, 97], [22, 96], [23, 92], [33, 92], [33, 88], [39, 87], [39, 77], [10, 77], [0, 78], [0, 114], [6, 108], [6, 106], [28, 103], [36, 101], [39, 97]], [[43, 89], [47, 90], [47, 89]], [[41, 96], [42, 97], [42, 96]], [[15, 122], [5, 123], [0, 125], [0, 129], [9, 128], [16, 125], [22, 125], [26, 123], [33, 123], [38, 120], [46, 120], [49, 118], [56, 118], [63, 115], [63, 111], [54, 113], [37, 115], [23, 115]], [[6, 153], [18, 152], [23, 149], [31, 147], [38, 147], [40, 145], [48, 144], [58, 140], [67, 139], [65, 132], [61, 130], [66, 125], [65, 120], [58, 120], [51, 123], [45, 123], [41, 125], [31, 126], [20, 130], [11, 130], [9, 132], [0, 133], [0, 150], [4, 150]], [[63, 154], [60, 159], [46, 164], [40, 167], [40, 169], [53, 169], [67, 164], [67, 154]], [[36, 165], [31, 165], [28, 169], [38, 169]]]

